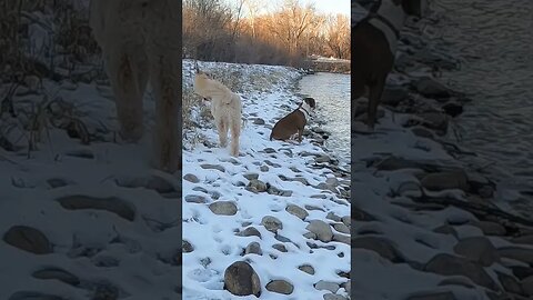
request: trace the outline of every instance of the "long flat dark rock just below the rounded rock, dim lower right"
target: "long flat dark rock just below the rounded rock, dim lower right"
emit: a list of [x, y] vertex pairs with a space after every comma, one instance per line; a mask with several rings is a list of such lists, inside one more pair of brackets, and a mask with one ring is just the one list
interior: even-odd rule
[[477, 263], [467, 259], [454, 257], [447, 253], [434, 256], [423, 268], [426, 272], [433, 272], [442, 276], [464, 276], [470, 278], [476, 284], [489, 289], [495, 289], [494, 280]]

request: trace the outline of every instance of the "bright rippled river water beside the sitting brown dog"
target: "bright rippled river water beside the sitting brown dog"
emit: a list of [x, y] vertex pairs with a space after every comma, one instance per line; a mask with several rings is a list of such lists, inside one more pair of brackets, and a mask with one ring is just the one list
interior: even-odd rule
[[300, 80], [300, 92], [316, 100], [316, 116], [331, 132], [326, 147], [350, 162], [350, 76], [319, 72]]

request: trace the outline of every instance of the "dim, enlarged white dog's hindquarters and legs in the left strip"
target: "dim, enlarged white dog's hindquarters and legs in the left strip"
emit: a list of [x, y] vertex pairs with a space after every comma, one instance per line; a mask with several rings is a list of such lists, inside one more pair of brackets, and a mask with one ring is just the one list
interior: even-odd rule
[[155, 97], [158, 169], [181, 168], [181, 2], [91, 0], [90, 26], [102, 48], [117, 101], [120, 136], [135, 142], [143, 133], [142, 98], [150, 80]]

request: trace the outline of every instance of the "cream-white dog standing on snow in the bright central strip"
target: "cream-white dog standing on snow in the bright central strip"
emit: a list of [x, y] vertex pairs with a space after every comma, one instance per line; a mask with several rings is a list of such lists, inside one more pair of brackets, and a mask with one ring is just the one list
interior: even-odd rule
[[211, 114], [213, 114], [219, 131], [221, 147], [228, 144], [228, 130], [231, 128], [231, 154], [239, 157], [242, 114], [242, 102], [239, 94], [200, 72], [198, 66], [194, 76], [194, 92], [203, 98], [211, 99]]

